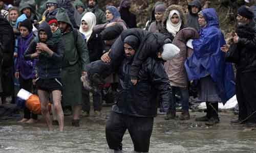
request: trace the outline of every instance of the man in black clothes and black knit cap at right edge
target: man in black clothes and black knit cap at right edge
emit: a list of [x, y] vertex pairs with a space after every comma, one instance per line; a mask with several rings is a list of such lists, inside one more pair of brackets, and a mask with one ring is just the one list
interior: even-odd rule
[[224, 45], [223, 52], [227, 53], [226, 60], [237, 66], [236, 93], [239, 106], [238, 119], [231, 123], [251, 127], [256, 125], [256, 31], [251, 10], [242, 6], [238, 9], [238, 29], [233, 37], [231, 46]]

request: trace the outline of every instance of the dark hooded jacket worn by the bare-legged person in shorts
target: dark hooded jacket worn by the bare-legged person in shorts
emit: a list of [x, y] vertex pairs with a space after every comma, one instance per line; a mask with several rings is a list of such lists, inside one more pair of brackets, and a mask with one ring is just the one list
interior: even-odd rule
[[[37, 75], [38, 78], [41, 79], [53, 79], [53, 78], [61, 78], [61, 62], [63, 59], [63, 52], [65, 50], [64, 44], [61, 40], [61, 35], [58, 35], [58, 38], [54, 38], [56, 40], [52, 40], [53, 37], [50, 26], [46, 25], [48, 24], [47, 22], [42, 22], [39, 24], [39, 29], [38, 29], [38, 35], [39, 31], [43, 30], [47, 33], [47, 46], [54, 52], [53, 55], [50, 57], [48, 53], [41, 53], [38, 57], [38, 61], [36, 63], [37, 67]], [[57, 30], [55, 33], [60, 33], [59, 30]], [[37, 36], [39, 37], [39, 36]], [[38, 38], [39, 39], [39, 38]], [[26, 50], [24, 54], [25, 60], [32, 60], [31, 59], [31, 54], [35, 53], [36, 51], [36, 45], [38, 41], [34, 39], [28, 49]]]

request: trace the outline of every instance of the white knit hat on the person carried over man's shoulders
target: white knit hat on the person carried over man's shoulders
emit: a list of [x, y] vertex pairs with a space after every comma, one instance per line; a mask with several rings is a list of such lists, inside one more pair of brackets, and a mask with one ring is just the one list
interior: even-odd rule
[[180, 48], [172, 43], [166, 43], [163, 45], [162, 59], [165, 61], [172, 60], [180, 53]]

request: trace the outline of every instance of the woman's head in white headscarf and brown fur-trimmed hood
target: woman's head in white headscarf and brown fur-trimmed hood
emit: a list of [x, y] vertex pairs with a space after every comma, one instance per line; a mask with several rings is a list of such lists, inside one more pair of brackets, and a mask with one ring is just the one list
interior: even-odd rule
[[174, 38], [177, 33], [185, 28], [185, 14], [181, 6], [171, 5], [164, 13], [160, 33]]

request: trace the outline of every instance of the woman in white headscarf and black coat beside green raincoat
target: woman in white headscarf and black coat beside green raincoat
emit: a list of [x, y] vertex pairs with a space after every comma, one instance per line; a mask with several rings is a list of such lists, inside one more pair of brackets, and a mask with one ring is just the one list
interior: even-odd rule
[[[96, 25], [96, 16], [92, 12], [88, 12], [83, 15], [81, 19], [81, 25], [79, 32], [86, 37], [86, 42], [89, 50], [90, 61], [94, 62], [100, 60], [100, 57], [103, 52], [103, 41], [100, 35], [96, 34], [93, 31], [93, 28]], [[83, 116], [90, 115], [90, 94], [89, 91], [83, 89]], [[94, 116], [99, 116], [102, 108], [102, 95], [101, 91], [93, 93], [93, 106], [94, 106]]]

